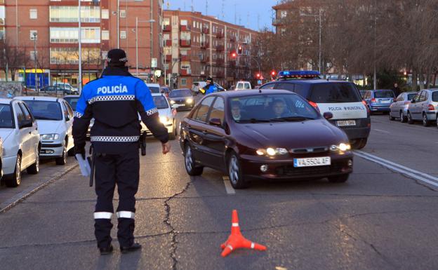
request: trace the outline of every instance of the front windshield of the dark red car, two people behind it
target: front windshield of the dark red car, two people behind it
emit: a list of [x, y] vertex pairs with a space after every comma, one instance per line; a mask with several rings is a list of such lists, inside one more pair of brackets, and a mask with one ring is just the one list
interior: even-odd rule
[[235, 97], [229, 112], [238, 123], [292, 122], [319, 118], [319, 113], [299, 95], [264, 94]]

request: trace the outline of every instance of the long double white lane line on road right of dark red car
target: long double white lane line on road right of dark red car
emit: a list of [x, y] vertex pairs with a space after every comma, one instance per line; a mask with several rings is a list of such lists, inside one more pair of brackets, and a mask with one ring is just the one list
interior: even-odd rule
[[[356, 156], [360, 156], [361, 158], [365, 158], [366, 160], [373, 161], [374, 163], [378, 163], [382, 166], [385, 166], [386, 168], [390, 168], [390, 169], [395, 170], [395, 171], [402, 173], [404, 175], [408, 175], [408, 176], [412, 177], [413, 179], [420, 180], [420, 181], [423, 181], [427, 184], [432, 184], [433, 186], [438, 187], [438, 178], [433, 177], [432, 175], [427, 175], [426, 173], [421, 173], [418, 170], [413, 170], [411, 168], [401, 166], [401, 165], [394, 163], [392, 161], [387, 161], [383, 158], [379, 158], [378, 156], [373, 156], [371, 154], [364, 153], [363, 151], [356, 150], [356, 151], [354, 151], [354, 154]], [[421, 177], [419, 175], [423, 175], [425, 177]], [[429, 179], [427, 179], [426, 177]], [[437, 182], [434, 182], [434, 181], [437, 181]]]

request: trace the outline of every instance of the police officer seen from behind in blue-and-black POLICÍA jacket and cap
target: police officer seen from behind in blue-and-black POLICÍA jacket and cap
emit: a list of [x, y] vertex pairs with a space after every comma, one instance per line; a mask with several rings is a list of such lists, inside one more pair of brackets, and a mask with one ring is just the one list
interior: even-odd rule
[[135, 193], [138, 190], [140, 159], [140, 114], [143, 123], [162, 144], [163, 154], [170, 150], [167, 129], [159, 121], [157, 107], [145, 83], [132, 76], [125, 66], [124, 50], [107, 55], [107, 67], [100, 79], [84, 86], [73, 123], [74, 150], [85, 156], [86, 132], [92, 118], [91, 144], [95, 164], [95, 237], [100, 254], [112, 252], [110, 236], [114, 212], [112, 198], [117, 184], [117, 238], [123, 253], [141, 248], [134, 242]]

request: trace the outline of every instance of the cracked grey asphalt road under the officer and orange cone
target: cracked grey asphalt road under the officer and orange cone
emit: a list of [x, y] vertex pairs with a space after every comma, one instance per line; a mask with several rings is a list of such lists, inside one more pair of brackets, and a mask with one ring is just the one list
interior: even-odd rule
[[[0, 214], [0, 269], [438, 269], [437, 134], [372, 116], [347, 183], [254, 182], [236, 191], [214, 170], [187, 176], [178, 140], [163, 156], [150, 139], [137, 195], [141, 251], [99, 255], [95, 194], [74, 168]], [[265, 252], [220, 257], [233, 209]]]

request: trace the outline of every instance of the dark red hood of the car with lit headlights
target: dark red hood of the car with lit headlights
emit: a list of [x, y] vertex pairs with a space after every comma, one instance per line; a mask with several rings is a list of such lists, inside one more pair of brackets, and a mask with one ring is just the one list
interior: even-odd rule
[[241, 124], [241, 132], [260, 147], [323, 147], [348, 142], [347, 135], [324, 119], [303, 122]]

